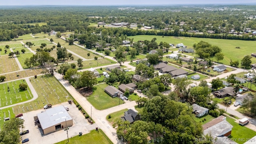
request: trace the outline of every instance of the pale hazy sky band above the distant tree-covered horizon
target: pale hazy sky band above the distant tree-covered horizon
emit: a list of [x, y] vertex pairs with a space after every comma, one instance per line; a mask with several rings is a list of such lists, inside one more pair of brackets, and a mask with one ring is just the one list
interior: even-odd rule
[[[172, 3], [173, 2], [173, 3]], [[129, 1], [116, 1], [116, 0], [8, 0], [1, 1], [0, 6], [141, 6], [141, 5], [207, 5], [207, 4], [256, 4], [256, 0], [129, 0]]]

